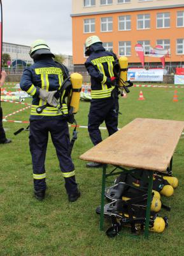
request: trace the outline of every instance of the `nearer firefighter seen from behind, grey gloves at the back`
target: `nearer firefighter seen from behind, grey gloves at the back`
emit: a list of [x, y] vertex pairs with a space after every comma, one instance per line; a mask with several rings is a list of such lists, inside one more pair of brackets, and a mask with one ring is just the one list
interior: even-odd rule
[[[68, 70], [64, 65], [53, 61], [52, 58], [55, 56], [44, 40], [36, 40], [32, 43], [30, 56], [34, 64], [25, 68], [20, 87], [32, 96], [29, 146], [32, 156], [34, 195], [38, 200], [45, 198], [45, 156], [50, 132], [65, 180], [68, 200], [74, 202], [80, 196], [80, 192], [75, 180], [74, 164], [68, 154], [69, 129], [64, 116], [67, 114], [67, 105], [62, 104], [60, 111], [55, 96], [64, 79], [69, 76]], [[42, 106], [46, 108], [39, 113], [38, 109]]]

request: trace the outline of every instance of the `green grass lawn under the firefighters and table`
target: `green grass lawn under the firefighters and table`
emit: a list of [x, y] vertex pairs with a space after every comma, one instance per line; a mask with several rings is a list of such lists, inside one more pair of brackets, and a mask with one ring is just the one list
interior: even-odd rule
[[[143, 101], [138, 100], [140, 90], [145, 97]], [[178, 102], [173, 102], [174, 90], [178, 92]], [[122, 113], [119, 116], [120, 128], [137, 117], [184, 120], [183, 88], [135, 87], [131, 88], [126, 99], [121, 98], [119, 102]], [[1, 102], [1, 105], [4, 116], [24, 108], [23, 105], [8, 102]], [[76, 115], [78, 124], [87, 125], [88, 109], [89, 103], [81, 102]], [[27, 109], [7, 120], [29, 120], [29, 112], [30, 109]], [[164, 204], [171, 205], [171, 212], [160, 212], [161, 216], [168, 216], [169, 227], [163, 234], [150, 232], [148, 240], [143, 236], [139, 239], [127, 236], [131, 232], [129, 228], [124, 228], [120, 236], [110, 239], [99, 231], [99, 216], [95, 212], [101, 202], [101, 170], [88, 169], [85, 161], [79, 159], [81, 154], [92, 147], [87, 129], [78, 128], [78, 140], [72, 154], [81, 198], [69, 204], [59, 162], [50, 140], [46, 154], [46, 198], [43, 202], [34, 199], [29, 132], [13, 135], [21, 127], [26, 127], [26, 124], [4, 122], [6, 136], [13, 143], [0, 145], [0, 256], [184, 255], [182, 137], [173, 156], [173, 173], [179, 179], [179, 186], [171, 198], [162, 196]], [[101, 132], [106, 138], [107, 131]], [[110, 223], [106, 223], [107, 227], [110, 227]]]

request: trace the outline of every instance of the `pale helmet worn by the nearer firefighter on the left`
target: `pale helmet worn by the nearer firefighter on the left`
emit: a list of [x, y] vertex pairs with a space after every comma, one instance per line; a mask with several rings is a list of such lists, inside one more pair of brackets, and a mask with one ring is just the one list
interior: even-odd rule
[[29, 54], [32, 59], [38, 58], [38, 56], [42, 54], [49, 54], [52, 55], [53, 58], [55, 57], [54, 54], [50, 51], [50, 48], [46, 44], [45, 40], [42, 39], [38, 39], [31, 44]]

